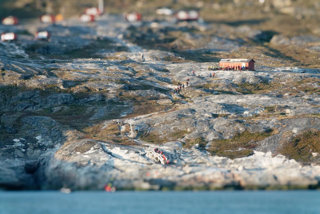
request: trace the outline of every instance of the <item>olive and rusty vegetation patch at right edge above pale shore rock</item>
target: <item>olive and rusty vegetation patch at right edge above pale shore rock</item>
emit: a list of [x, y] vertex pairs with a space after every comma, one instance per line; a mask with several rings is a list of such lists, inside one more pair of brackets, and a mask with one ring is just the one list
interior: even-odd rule
[[[293, 158], [297, 161], [311, 162], [320, 160], [320, 130], [306, 130], [291, 141], [286, 141], [278, 152], [287, 158]], [[312, 153], [318, 155], [312, 155]]]

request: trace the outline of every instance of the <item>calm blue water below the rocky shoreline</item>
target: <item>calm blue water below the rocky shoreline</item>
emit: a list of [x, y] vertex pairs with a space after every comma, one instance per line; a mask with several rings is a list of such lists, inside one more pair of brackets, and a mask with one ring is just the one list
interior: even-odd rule
[[320, 191], [0, 192], [0, 213], [320, 213]]

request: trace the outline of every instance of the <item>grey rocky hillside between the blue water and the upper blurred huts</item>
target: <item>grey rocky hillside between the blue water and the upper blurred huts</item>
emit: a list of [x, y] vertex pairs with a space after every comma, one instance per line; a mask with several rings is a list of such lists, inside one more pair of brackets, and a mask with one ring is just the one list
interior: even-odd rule
[[[268, 31], [279, 19], [0, 25], [19, 38], [0, 42], [0, 188], [318, 187], [319, 34]], [[255, 71], [210, 78], [221, 58], [253, 58]]]

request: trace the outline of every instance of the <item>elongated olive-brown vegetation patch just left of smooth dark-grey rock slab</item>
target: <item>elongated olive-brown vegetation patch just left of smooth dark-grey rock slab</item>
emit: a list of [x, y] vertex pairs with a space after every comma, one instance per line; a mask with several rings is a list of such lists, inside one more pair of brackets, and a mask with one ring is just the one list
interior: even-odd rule
[[[277, 130], [268, 129], [265, 132], [245, 131], [243, 133], [236, 133], [231, 139], [214, 140], [211, 142], [211, 147], [207, 150], [212, 155], [228, 157], [231, 159], [247, 157], [253, 154], [253, 148], [258, 146], [257, 141], [261, 141], [273, 134]], [[239, 150], [239, 148], [244, 148]]]

